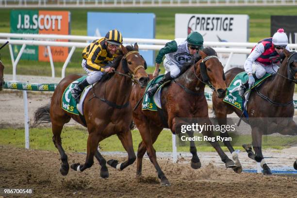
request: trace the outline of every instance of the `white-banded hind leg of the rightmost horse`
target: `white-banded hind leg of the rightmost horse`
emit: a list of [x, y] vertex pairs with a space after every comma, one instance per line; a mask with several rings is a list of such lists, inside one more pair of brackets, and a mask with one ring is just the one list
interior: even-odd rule
[[[227, 125], [227, 114], [222, 114], [222, 113], [218, 113], [216, 114], [217, 116], [217, 122], [220, 126], [222, 125]], [[234, 150], [234, 148], [231, 145], [231, 142], [228, 140], [229, 138], [229, 134], [228, 132], [220, 132], [220, 136], [223, 137], [223, 143], [224, 145], [229, 149], [232, 158], [234, 160], [234, 163], [236, 165], [236, 167], [233, 168], [234, 172], [236, 173], [241, 173], [242, 172], [242, 166], [241, 163], [238, 159], [238, 153]]]

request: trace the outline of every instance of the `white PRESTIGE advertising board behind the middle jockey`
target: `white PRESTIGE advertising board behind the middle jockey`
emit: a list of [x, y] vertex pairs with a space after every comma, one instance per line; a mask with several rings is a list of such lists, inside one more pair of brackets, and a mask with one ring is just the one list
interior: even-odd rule
[[[204, 41], [214, 42], [247, 42], [247, 15], [205, 15], [205, 14], [176, 14], [175, 37], [186, 38], [191, 32], [203, 35]], [[229, 54], [219, 54], [222, 63], [226, 63]], [[244, 54], [235, 54], [231, 60], [233, 66], [243, 66], [246, 59]]]

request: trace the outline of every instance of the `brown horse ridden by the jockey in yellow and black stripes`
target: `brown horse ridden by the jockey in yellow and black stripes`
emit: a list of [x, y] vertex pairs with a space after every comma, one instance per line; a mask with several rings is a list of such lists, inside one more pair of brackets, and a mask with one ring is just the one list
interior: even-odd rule
[[[121, 46], [123, 55], [114, 61], [115, 74], [107, 81], [97, 83], [85, 98], [83, 104], [84, 119], [79, 115], [67, 113], [61, 108], [62, 96], [66, 87], [79, 75], [70, 75], [64, 78], [55, 89], [51, 98], [50, 106], [41, 107], [35, 112], [35, 122], [49, 121], [52, 125], [53, 143], [58, 148], [62, 165], [60, 172], [67, 175], [69, 165], [67, 155], [62, 148], [61, 132], [64, 124], [73, 118], [78, 123], [87, 127], [89, 136], [87, 140], [87, 155], [83, 165], [75, 163], [71, 168], [76, 171], [83, 171], [90, 168], [94, 163], [94, 155], [101, 165], [100, 176], [107, 178], [109, 176], [105, 159], [98, 151], [98, 144], [103, 139], [116, 134], [123, 147], [128, 152], [128, 160], [124, 163], [118, 163], [117, 160], [109, 160], [107, 164], [112, 167], [123, 170], [131, 165], [136, 156], [132, 145], [132, 134], [130, 123], [132, 122], [132, 108], [129, 104], [132, 91], [132, 81], [139, 83], [141, 87], [148, 84], [148, 74], [145, 71], [145, 60], [138, 52], [138, 46], [135, 43], [132, 46]], [[118, 75], [119, 74], [119, 75]], [[103, 98], [103, 99], [102, 99]], [[49, 118], [50, 114], [50, 118]]]

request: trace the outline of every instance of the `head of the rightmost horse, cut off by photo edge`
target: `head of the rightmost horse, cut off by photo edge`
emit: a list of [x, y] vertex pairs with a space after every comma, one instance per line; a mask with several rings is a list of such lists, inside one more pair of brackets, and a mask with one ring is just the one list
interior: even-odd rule
[[[284, 75], [287, 74], [287, 78], [295, 83], [297, 83], [297, 52], [283, 50], [285, 59], [281, 64], [281, 67], [285, 69]], [[281, 69], [280, 69], [281, 72]]]

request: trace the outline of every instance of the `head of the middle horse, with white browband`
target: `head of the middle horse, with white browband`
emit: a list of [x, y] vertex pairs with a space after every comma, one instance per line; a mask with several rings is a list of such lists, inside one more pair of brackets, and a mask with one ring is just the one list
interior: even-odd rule
[[202, 62], [200, 64], [200, 73], [203, 82], [211, 84], [219, 98], [225, 97], [226, 93], [226, 83], [224, 67], [219, 61], [214, 49], [208, 47], [199, 51], [202, 57]]

